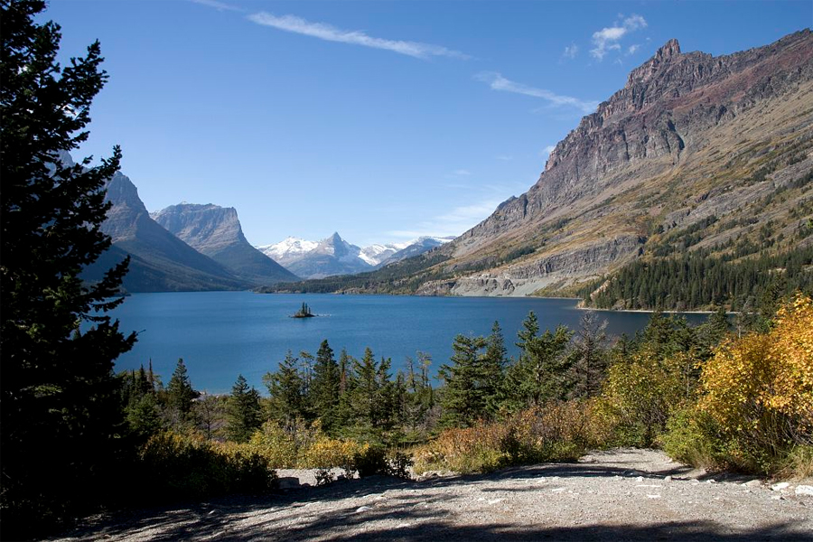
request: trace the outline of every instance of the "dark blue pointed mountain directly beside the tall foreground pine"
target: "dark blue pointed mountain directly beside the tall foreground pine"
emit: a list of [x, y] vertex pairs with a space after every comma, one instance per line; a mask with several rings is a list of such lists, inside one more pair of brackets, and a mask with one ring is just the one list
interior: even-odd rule
[[112, 203], [102, 230], [113, 239], [87, 271], [92, 280], [130, 255], [123, 286], [129, 292], [234, 290], [248, 287], [224, 266], [202, 255], [150, 218], [133, 182], [116, 173], [107, 182], [106, 201]]

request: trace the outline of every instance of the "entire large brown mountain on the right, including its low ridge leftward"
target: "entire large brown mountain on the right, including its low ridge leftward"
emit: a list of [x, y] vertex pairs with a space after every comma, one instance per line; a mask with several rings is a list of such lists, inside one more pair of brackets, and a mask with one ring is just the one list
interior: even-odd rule
[[[811, 171], [810, 30], [718, 57], [683, 52], [670, 40], [556, 145], [528, 192], [460, 238], [372, 274], [288, 287], [426, 295], [586, 288], [588, 301], [623, 290], [617, 307], [731, 301], [749, 293], [753, 276], [717, 285], [715, 299], [689, 299], [691, 284], [670, 292], [668, 277], [651, 269], [678, 260], [744, 268], [810, 247]], [[813, 262], [791, 259], [799, 265], [772, 273], [810, 275]], [[637, 278], [632, 266], [640, 267]], [[688, 276], [682, 268], [672, 273]], [[629, 285], [618, 287], [620, 280]], [[649, 300], [633, 291], [659, 283]]]

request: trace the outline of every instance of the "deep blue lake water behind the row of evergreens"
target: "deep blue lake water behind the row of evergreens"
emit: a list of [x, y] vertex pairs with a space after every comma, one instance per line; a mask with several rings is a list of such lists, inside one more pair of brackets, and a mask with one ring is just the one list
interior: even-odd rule
[[[307, 303], [317, 318], [289, 315]], [[266, 393], [262, 376], [276, 370], [285, 352], [311, 353], [327, 339], [338, 358], [347, 349], [360, 357], [370, 347], [377, 358], [392, 359], [393, 373], [418, 350], [432, 356], [436, 371], [449, 360], [458, 333], [487, 335], [499, 321], [509, 355], [521, 322], [530, 311], [540, 328], [562, 323], [577, 329], [583, 311], [575, 300], [490, 297], [414, 297], [395, 295], [252, 294], [184, 292], [133, 294], [113, 313], [122, 331], [138, 333], [135, 348], [116, 369], [145, 367], [149, 360], [166, 383], [183, 358], [192, 386], [210, 393], [229, 392], [238, 374]], [[649, 320], [646, 313], [600, 312], [607, 332], [634, 334]], [[699, 323], [704, 315], [688, 314]]]

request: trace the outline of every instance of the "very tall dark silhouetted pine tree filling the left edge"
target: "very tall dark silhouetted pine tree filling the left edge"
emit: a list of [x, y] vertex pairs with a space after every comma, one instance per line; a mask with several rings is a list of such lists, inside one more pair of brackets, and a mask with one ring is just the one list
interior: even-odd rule
[[[0, 2], [0, 448], [4, 537], [26, 537], [100, 498], [122, 423], [113, 360], [129, 350], [106, 312], [124, 261], [96, 285], [80, 273], [110, 246], [100, 226], [120, 152], [90, 167], [65, 154], [88, 138], [107, 79], [98, 42], [61, 67], [45, 3]], [[85, 325], [81, 325], [85, 324]], [[26, 530], [18, 531], [24, 526]]]

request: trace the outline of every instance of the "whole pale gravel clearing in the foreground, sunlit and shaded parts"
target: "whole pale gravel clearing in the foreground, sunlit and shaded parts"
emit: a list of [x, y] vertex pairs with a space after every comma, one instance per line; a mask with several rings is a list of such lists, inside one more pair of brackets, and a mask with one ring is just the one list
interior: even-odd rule
[[715, 478], [652, 450], [319, 488], [279, 474], [277, 495], [93, 518], [59, 540], [813, 540], [810, 481]]

